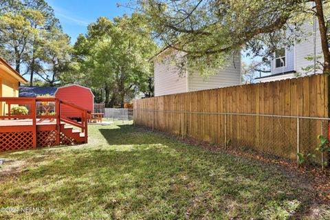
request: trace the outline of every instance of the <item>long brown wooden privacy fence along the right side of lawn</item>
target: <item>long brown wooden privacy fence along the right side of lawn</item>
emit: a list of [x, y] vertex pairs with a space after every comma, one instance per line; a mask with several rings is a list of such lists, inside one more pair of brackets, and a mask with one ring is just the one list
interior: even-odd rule
[[328, 134], [328, 84], [314, 75], [135, 100], [134, 123], [295, 159]]

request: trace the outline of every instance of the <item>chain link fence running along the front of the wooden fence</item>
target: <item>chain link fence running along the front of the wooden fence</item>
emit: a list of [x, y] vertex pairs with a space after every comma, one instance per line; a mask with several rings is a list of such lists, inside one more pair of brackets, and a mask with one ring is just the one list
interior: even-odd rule
[[146, 109], [134, 111], [136, 125], [221, 146], [252, 148], [288, 159], [297, 159], [297, 153], [315, 153], [314, 160], [320, 162], [321, 153], [316, 151], [320, 142], [318, 135], [328, 137], [329, 133], [329, 118]]

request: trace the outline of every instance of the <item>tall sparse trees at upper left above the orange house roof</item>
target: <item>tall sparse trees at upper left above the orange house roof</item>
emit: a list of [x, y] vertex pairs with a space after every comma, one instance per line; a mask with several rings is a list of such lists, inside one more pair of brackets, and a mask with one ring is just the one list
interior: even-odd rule
[[[35, 74], [54, 85], [59, 70], [52, 67], [50, 71], [54, 55], [58, 60], [63, 59], [70, 49], [69, 36], [63, 33], [54, 10], [44, 0], [1, 0], [0, 6], [1, 54], [17, 72], [30, 75], [30, 85]], [[54, 50], [58, 53], [54, 54]]]

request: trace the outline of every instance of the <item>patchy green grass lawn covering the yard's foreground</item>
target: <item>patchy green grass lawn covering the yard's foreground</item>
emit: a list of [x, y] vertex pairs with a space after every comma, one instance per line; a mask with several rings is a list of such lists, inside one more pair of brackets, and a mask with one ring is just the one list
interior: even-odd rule
[[121, 123], [90, 125], [88, 144], [0, 153], [0, 219], [330, 219], [302, 175]]

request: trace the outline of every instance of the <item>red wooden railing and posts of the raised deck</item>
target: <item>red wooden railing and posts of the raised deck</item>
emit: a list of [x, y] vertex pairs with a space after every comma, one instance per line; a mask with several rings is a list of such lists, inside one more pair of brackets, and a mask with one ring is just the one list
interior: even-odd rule
[[[88, 122], [88, 114], [90, 111], [87, 109], [83, 109], [78, 107], [76, 104], [72, 104], [69, 102], [65, 102], [58, 98], [0, 98], [0, 104], [5, 102], [8, 113], [5, 115], [0, 115], [1, 120], [6, 120], [5, 131], [7, 132], [15, 132], [17, 131], [17, 126], [10, 126], [10, 122], [8, 120], [22, 120], [22, 119], [30, 119], [32, 120], [32, 124], [25, 125], [30, 126], [32, 131], [32, 146], [37, 146], [37, 123], [42, 122], [43, 120], [49, 120], [49, 122], [56, 122], [56, 144], [60, 144], [61, 138], [61, 122], [65, 122], [66, 124], [71, 124], [73, 126], [81, 129], [82, 133], [85, 133], [85, 143], [87, 143], [87, 122]], [[12, 115], [11, 108], [13, 105], [23, 105], [29, 109], [28, 115]], [[61, 114], [61, 107], [68, 106], [73, 109], [80, 111], [81, 113], [81, 122], [76, 122], [67, 118], [65, 115]], [[39, 112], [38, 112], [39, 111]], [[40, 111], [43, 113], [40, 114]], [[5, 109], [3, 109], [5, 112]], [[14, 121], [13, 121], [14, 122]], [[9, 124], [9, 126], [8, 126]], [[3, 130], [3, 129], [2, 129]], [[1, 123], [0, 123], [0, 132], [1, 132]], [[30, 137], [29, 137], [30, 138]]]

